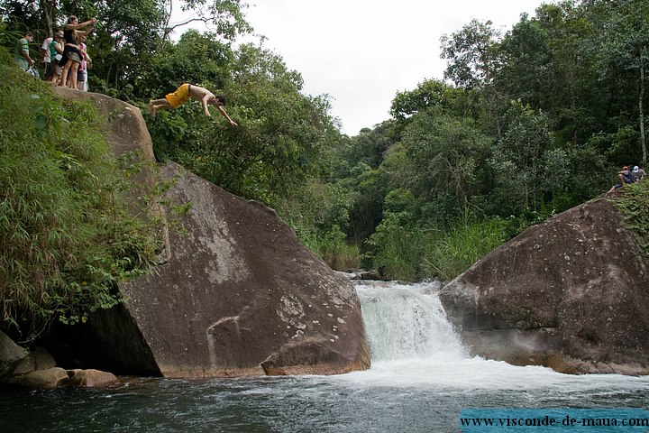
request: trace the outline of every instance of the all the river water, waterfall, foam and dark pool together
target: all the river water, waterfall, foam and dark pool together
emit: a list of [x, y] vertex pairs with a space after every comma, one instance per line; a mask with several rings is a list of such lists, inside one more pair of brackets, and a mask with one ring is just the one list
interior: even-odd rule
[[568, 375], [470, 357], [445, 318], [438, 289], [434, 282], [357, 286], [370, 340], [368, 371], [127, 378], [106, 390], [5, 392], [0, 431], [457, 432], [469, 408], [649, 407], [649, 377]]

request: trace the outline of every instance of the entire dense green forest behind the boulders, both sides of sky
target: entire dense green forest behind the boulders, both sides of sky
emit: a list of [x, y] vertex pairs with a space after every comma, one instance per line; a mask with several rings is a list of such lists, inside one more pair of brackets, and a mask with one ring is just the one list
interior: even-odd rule
[[[388, 278], [450, 279], [527, 226], [605, 192], [623, 165], [646, 164], [645, 0], [540, 4], [504, 32], [466, 23], [439, 41], [444, 79], [422, 77], [395, 95], [389, 119], [353, 137], [263, 39], [237, 43], [252, 31], [246, 7], [7, 0], [0, 39], [13, 50], [25, 30], [42, 41], [69, 14], [96, 16], [90, 90], [142, 107], [160, 161], [276, 208], [333, 266]], [[178, 8], [202, 11], [212, 31], [171, 40], [182, 30], [169, 25]], [[149, 99], [183, 82], [224, 94], [240, 127], [191, 104], [146, 113]]]

